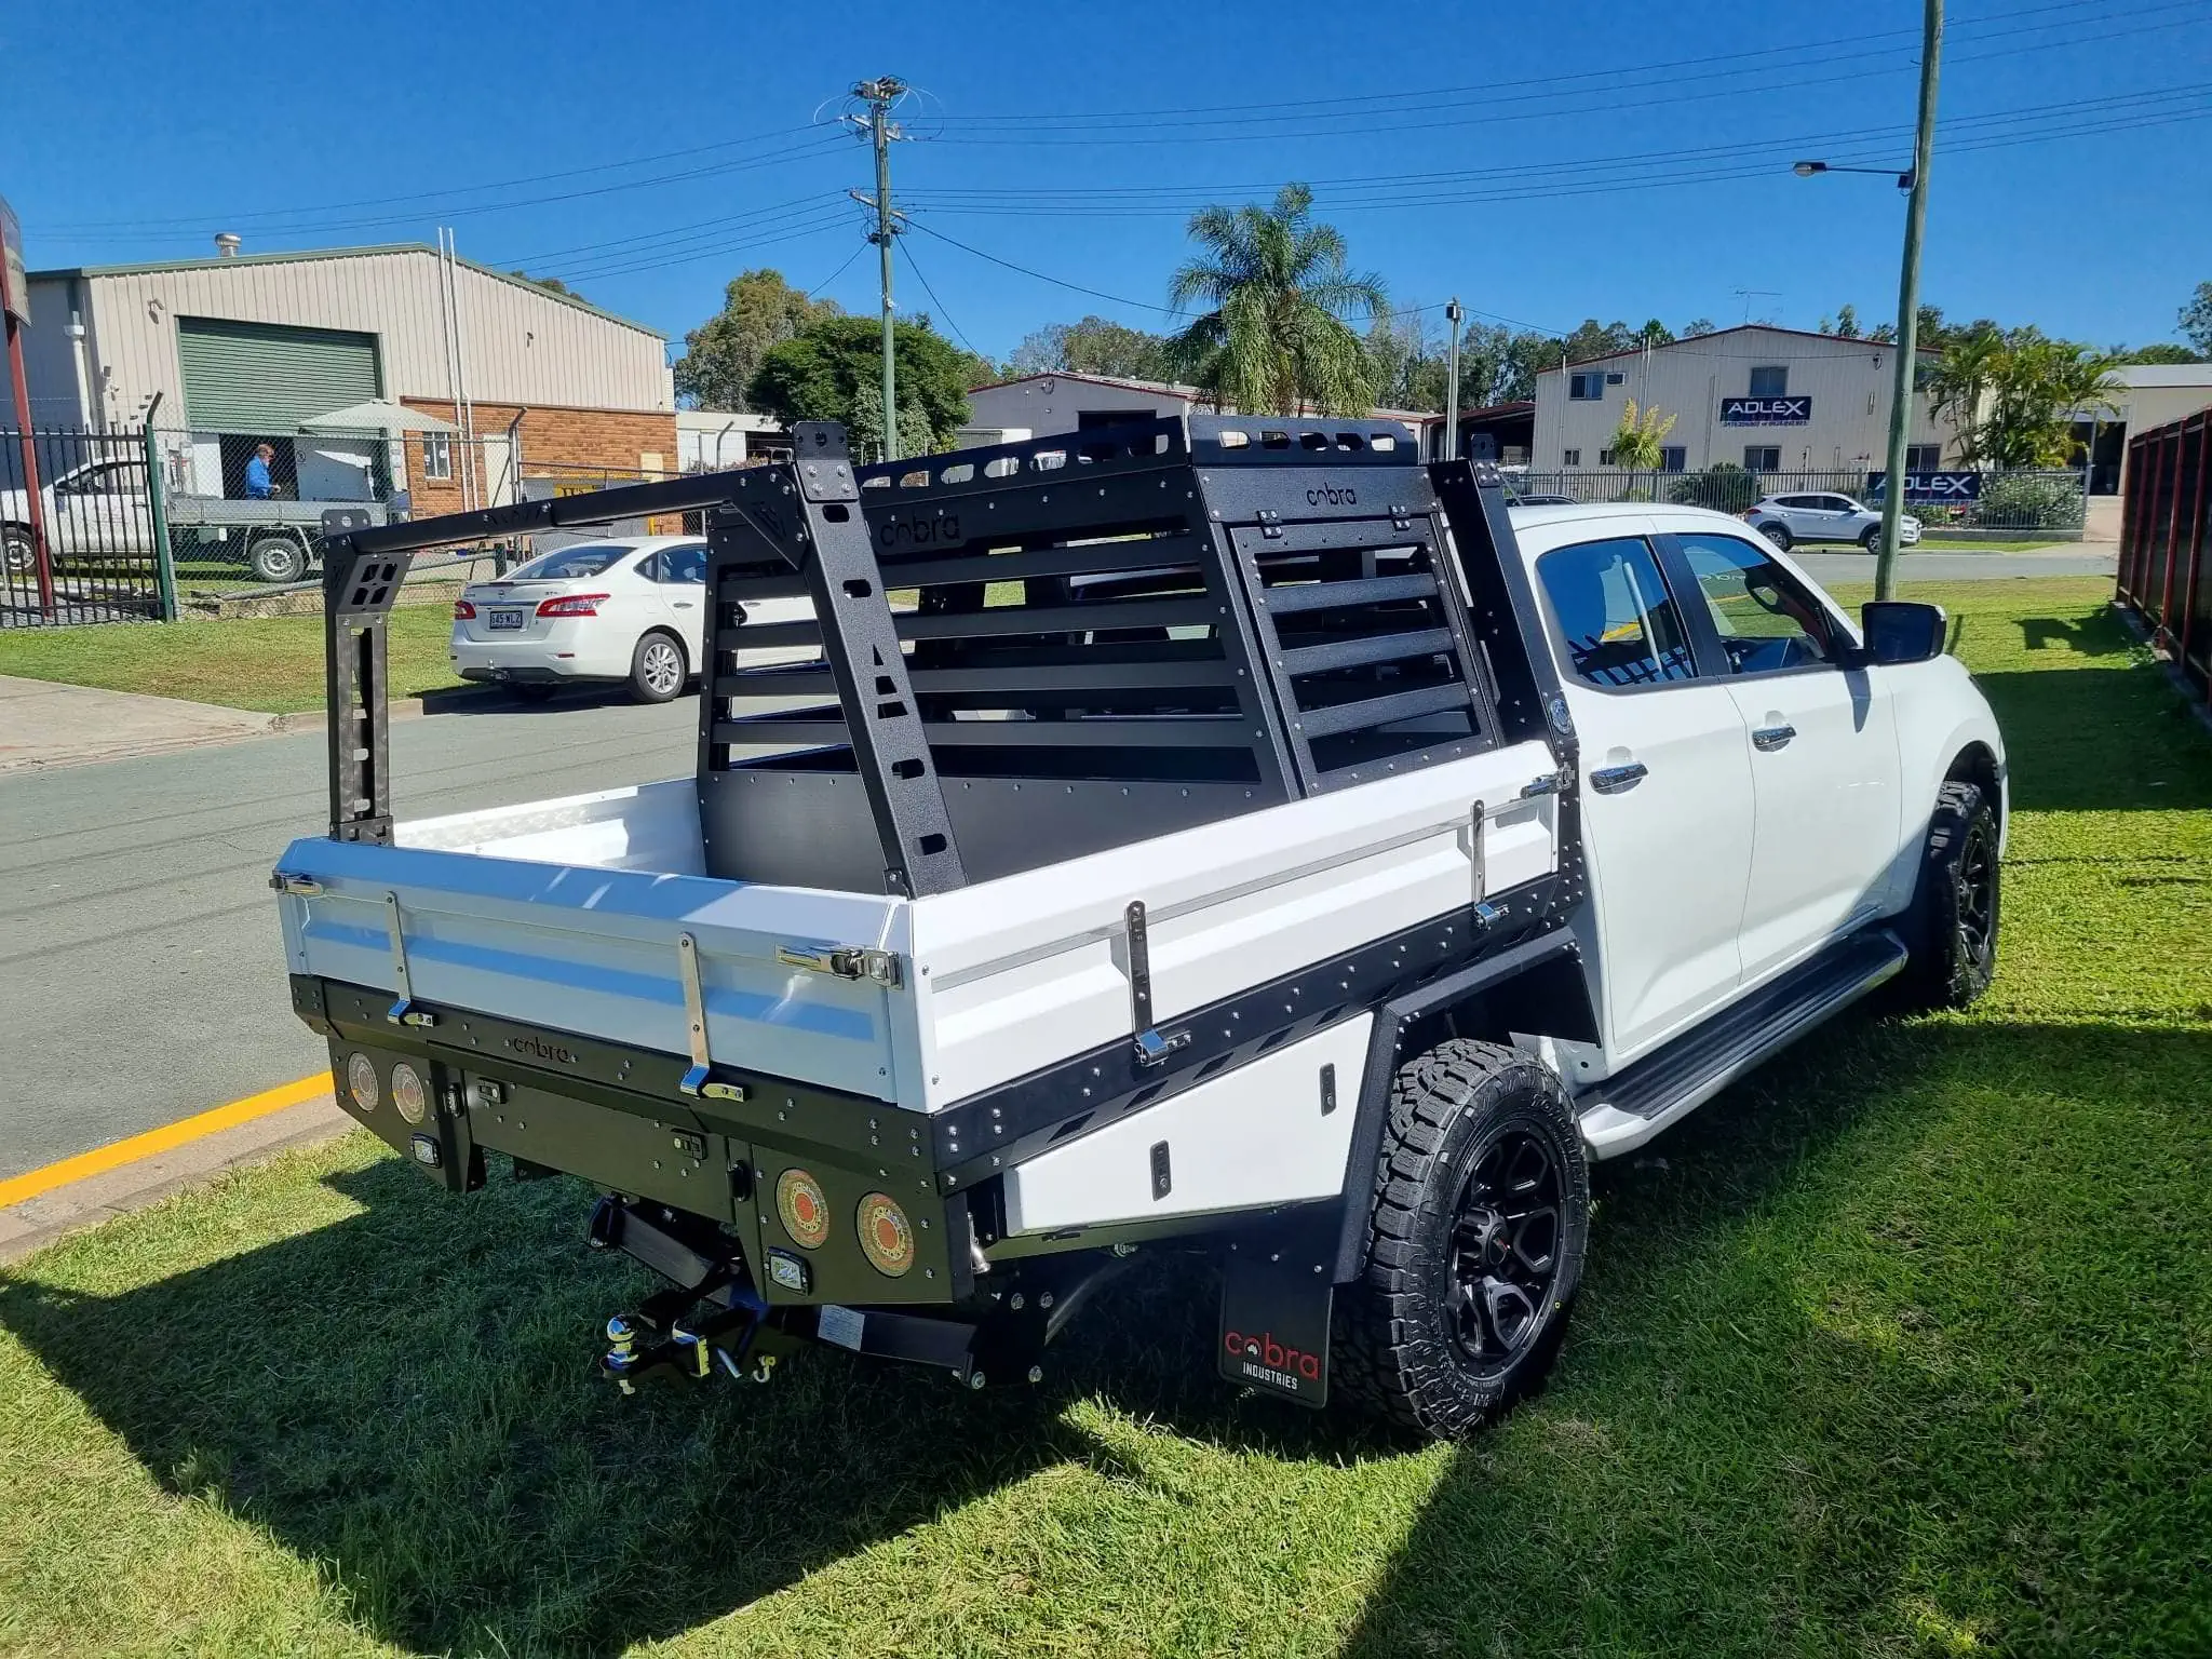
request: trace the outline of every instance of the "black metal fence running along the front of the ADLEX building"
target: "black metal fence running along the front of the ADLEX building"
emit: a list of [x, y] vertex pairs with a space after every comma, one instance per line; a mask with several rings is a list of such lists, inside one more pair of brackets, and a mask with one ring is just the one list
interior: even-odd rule
[[[1880, 507], [1882, 491], [1865, 469], [1750, 471], [1730, 462], [1705, 471], [1630, 473], [1619, 467], [1571, 467], [1511, 478], [1522, 495], [1564, 495], [1577, 502], [1672, 502], [1745, 513], [1770, 495], [1849, 495], [1863, 507]], [[1905, 511], [1920, 520], [1922, 535], [1960, 540], [2051, 540], [2081, 538], [2084, 489], [2079, 471], [1942, 471], [1907, 482]]]

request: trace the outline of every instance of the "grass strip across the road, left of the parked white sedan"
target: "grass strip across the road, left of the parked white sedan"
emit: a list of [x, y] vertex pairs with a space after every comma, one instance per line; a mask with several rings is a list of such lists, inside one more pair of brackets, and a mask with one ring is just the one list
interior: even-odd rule
[[[392, 613], [394, 697], [462, 684], [445, 655], [451, 630], [449, 604]], [[323, 706], [323, 617], [9, 628], [0, 633], [0, 675], [290, 714]]]

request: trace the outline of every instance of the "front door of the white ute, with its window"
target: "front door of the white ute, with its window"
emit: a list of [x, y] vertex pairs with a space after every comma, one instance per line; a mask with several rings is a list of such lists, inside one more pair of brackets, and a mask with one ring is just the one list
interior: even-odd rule
[[1854, 661], [1836, 611], [1774, 549], [1705, 529], [1661, 546], [1699, 666], [1743, 717], [1754, 803], [1743, 982], [1756, 984], [1885, 907], [1900, 810], [1896, 703]]

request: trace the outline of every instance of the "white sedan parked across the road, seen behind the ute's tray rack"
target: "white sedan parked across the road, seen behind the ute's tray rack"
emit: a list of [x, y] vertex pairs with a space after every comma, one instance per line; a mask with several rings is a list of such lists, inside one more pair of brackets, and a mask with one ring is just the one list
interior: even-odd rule
[[[500, 681], [524, 697], [626, 681], [639, 701], [666, 703], [699, 672], [706, 613], [697, 535], [582, 542], [462, 588], [451, 657], [462, 679]], [[748, 615], [799, 622], [812, 611], [787, 599], [748, 606]], [[785, 655], [748, 653], [748, 664]]]

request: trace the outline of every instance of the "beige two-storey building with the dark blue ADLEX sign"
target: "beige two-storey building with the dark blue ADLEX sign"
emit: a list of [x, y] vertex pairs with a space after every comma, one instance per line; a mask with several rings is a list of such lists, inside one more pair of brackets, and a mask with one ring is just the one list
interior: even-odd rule
[[[1933, 356], [1933, 354], [1922, 354]], [[1674, 416], [1666, 471], [1717, 462], [1763, 473], [1880, 471], [1889, 451], [1896, 347], [1767, 323], [1544, 369], [1535, 378], [1533, 471], [1613, 465], [1621, 405]], [[1913, 394], [1909, 471], [1958, 456], [1958, 431]]]

